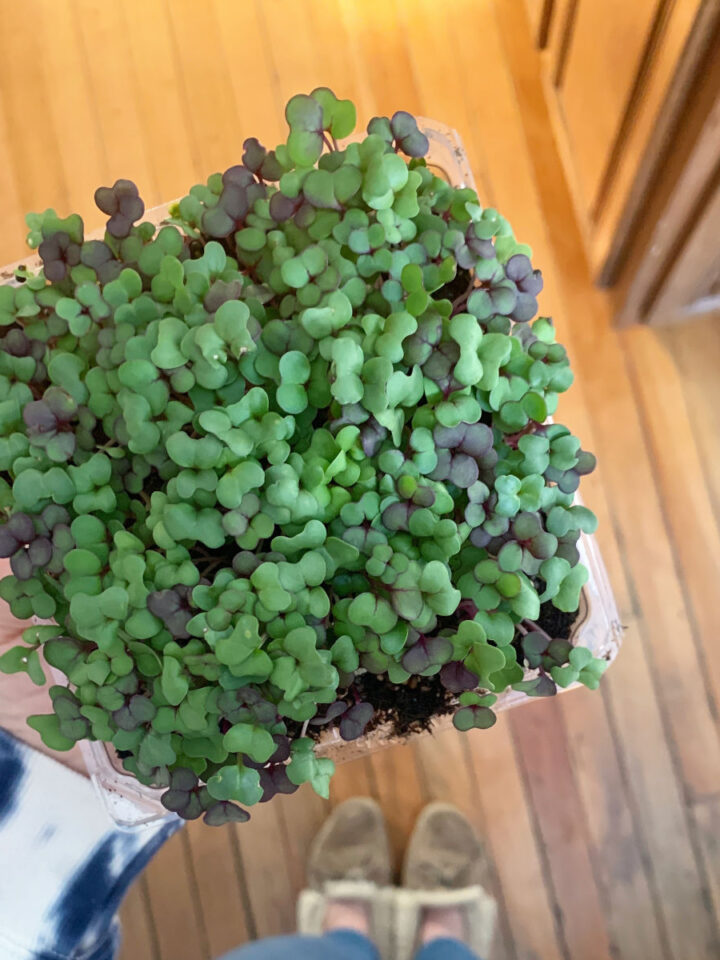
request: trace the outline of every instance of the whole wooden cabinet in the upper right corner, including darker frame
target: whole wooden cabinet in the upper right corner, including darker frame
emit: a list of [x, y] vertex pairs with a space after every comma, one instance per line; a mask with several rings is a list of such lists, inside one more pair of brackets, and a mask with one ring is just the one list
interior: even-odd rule
[[[720, 146], [705, 127], [720, 90], [720, 0], [526, 0], [526, 6], [594, 277], [617, 287], [618, 314], [626, 321], [720, 307], [720, 259], [708, 243], [714, 229], [718, 235], [713, 177]], [[704, 117], [697, 115], [699, 102]], [[678, 200], [677, 191], [685, 196]], [[693, 203], [701, 196], [698, 211]], [[665, 236], [660, 255], [654, 228], [663, 218], [660, 233], [675, 236], [672, 243]], [[669, 277], [680, 264], [682, 276]], [[642, 295], [632, 291], [631, 272], [639, 270], [647, 281]]]

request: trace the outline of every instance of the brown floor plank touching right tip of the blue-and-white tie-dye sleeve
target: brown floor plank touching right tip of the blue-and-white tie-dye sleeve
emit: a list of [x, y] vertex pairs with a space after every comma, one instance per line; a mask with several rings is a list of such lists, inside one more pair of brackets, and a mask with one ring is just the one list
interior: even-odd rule
[[176, 833], [146, 871], [159, 960], [206, 960], [206, 933], [197, 902], [187, 833]]

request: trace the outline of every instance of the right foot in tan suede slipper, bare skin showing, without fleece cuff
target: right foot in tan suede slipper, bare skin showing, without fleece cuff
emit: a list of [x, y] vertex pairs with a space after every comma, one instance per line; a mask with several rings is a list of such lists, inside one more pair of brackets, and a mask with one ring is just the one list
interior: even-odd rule
[[[432, 803], [420, 814], [410, 838], [403, 886], [427, 891], [483, 886], [487, 866], [482, 844], [467, 818], [450, 804]], [[419, 938], [428, 943], [439, 937], [467, 938], [463, 907], [425, 907]]]

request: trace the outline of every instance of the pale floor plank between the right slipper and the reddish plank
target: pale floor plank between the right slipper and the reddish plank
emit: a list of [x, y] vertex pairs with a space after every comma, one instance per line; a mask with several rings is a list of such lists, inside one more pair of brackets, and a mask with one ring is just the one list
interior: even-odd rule
[[470, 732], [465, 743], [517, 960], [568, 960], [558, 940], [507, 716], [491, 730]]

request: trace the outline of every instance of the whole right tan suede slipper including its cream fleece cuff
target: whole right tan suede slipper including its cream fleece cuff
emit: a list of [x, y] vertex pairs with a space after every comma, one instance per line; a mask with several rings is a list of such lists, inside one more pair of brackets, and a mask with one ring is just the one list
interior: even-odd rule
[[490, 952], [497, 906], [484, 888], [488, 860], [466, 817], [450, 804], [425, 807], [415, 825], [396, 892], [393, 955], [409, 960], [420, 944], [427, 911], [461, 912], [462, 937], [478, 956]]

